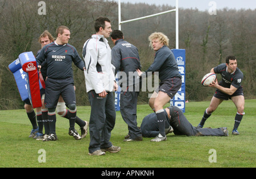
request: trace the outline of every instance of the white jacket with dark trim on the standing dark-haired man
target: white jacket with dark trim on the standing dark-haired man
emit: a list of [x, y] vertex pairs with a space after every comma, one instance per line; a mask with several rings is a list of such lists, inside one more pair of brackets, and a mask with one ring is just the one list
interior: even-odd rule
[[97, 94], [102, 91], [113, 91], [114, 66], [111, 64], [111, 48], [103, 35], [92, 35], [84, 43], [82, 56], [85, 61], [85, 85], [87, 93], [95, 90]]

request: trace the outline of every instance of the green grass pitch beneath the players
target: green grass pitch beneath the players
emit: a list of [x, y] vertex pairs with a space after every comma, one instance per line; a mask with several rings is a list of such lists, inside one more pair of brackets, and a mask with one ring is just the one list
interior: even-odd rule
[[[209, 102], [186, 103], [185, 116], [197, 126]], [[117, 111], [112, 143], [122, 149], [118, 153], [107, 152], [105, 156], [89, 156], [89, 134], [82, 140], [68, 135], [67, 119], [57, 116], [57, 141], [43, 142], [28, 138], [31, 124], [24, 110], [0, 111], [0, 167], [71, 167], [71, 168], [171, 168], [171, 167], [242, 167], [256, 166], [255, 117], [256, 99], [246, 100], [245, 116], [238, 128], [240, 135], [232, 136], [236, 107], [232, 101], [224, 101], [205, 123], [205, 127], [228, 127], [228, 137], [187, 137], [167, 135], [167, 141], [153, 143], [151, 138], [139, 142], [123, 142], [127, 125]], [[138, 106], [138, 126], [147, 114], [148, 105]], [[90, 107], [77, 107], [77, 115], [89, 121]], [[76, 126], [78, 130], [79, 127]], [[79, 131], [80, 132], [80, 131]], [[46, 163], [39, 163], [46, 151]], [[209, 158], [216, 151], [216, 162]]]

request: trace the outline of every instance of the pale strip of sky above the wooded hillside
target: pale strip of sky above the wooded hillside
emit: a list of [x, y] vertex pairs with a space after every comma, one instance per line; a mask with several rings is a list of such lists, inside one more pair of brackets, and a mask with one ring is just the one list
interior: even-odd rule
[[[117, 1], [118, 0], [114, 0]], [[130, 3], [148, 3], [150, 5], [170, 5], [175, 6], [176, 0], [121, 0], [121, 2]], [[214, 4], [213, 4], [213, 3]], [[211, 7], [216, 6], [216, 9], [256, 9], [255, 0], [179, 0], [179, 7], [184, 9], [198, 9], [200, 11], [209, 10]]]

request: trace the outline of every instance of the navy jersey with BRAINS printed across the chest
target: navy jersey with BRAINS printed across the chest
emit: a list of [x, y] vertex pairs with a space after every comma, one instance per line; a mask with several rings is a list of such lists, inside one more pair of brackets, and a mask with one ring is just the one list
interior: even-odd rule
[[72, 61], [81, 70], [85, 66], [75, 47], [70, 44], [59, 45], [55, 41], [42, 48], [36, 61], [39, 65], [46, 61], [47, 77], [57, 79], [73, 77]]

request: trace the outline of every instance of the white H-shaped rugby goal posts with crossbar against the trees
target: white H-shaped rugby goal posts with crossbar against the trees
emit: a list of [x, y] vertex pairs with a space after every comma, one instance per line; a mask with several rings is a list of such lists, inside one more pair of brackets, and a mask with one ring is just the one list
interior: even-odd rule
[[162, 13], [143, 16], [141, 18], [135, 18], [135, 19], [124, 20], [124, 21], [121, 21], [121, 0], [118, 0], [118, 25], [119, 25], [119, 30], [121, 30], [121, 26], [122, 26], [123, 23], [128, 23], [128, 22], [133, 22], [135, 20], [151, 18], [151, 17], [154, 17], [154, 16], [167, 14], [167, 13], [172, 13], [172, 12], [176, 12], [176, 49], [179, 49], [179, 0], [176, 0], [176, 8], [175, 9], [164, 11]]

